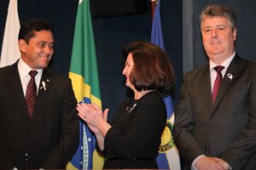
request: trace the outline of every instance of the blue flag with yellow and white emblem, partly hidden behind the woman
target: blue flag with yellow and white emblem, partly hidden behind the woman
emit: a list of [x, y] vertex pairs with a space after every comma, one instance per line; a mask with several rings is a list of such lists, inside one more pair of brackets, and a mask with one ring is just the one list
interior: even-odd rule
[[[160, 20], [160, 0], [157, 0], [157, 5], [154, 9], [154, 18], [151, 31], [151, 42], [158, 45], [165, 50], [164, 38], [162, 33], [162, 26]], [[156, 158], [158, 167], [160, 169], [174, 169], [179, 170], [180, 159], [178, 156], [178, 150], [173, 141], [172, 129], [174, 123], [174, 114], [172, 106], [172, 96], [169, 95], [164, 98], [167, 111], [166, 128], [161, 136], [161, 144], [159, 149], [159, 155]]]

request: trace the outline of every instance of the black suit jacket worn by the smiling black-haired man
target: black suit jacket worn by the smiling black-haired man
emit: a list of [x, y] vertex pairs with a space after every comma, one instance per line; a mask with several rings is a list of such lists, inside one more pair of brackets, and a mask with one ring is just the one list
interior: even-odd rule
[[71, 81], [49, 68], [42, 81], [46, 90], [38, 90], [29, 121], [17, 62], [0, 69], [0, 169], [65, 168], [78, 147], [79, 117]]

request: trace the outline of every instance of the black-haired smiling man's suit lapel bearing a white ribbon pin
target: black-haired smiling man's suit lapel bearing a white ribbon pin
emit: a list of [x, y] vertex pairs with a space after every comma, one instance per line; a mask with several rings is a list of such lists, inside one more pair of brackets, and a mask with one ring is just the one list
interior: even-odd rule
[[[45, 86], [43, 86], [45, 84]], [[35, 119], [38, 117], [38, 114], [40, 113], [41, 108], [44, 105], [45, 99], [47, 98], [47, 95], [49, 94], [49, 89], [51, 88], [51, 74], [49, 72], [49, 69], [46, 68], [43, 71], [43, 75], [41, 77], [39, 88], [38, 88], [38, 97], [36, 101], [36, 105], [34, 108], [34, 112], [31, 119], [31, 125], [35, 121]]]

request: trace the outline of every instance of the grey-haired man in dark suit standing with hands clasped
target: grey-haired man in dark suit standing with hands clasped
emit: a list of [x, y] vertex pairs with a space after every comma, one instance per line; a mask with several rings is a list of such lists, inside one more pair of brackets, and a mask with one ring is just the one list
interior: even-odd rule
[[255, 169], [256, 64], [236, 54], [233, 11], [205, 8], [201, 36], [209, 63], [184, 76], [174, 124], [177, 148], [192, 169]]

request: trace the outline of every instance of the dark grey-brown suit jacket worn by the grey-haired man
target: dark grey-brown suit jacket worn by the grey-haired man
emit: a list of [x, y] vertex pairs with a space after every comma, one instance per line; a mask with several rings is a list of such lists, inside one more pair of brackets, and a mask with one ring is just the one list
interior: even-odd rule
[[[227, 77], [232, 75], [232, 79]], [[237, 54], [212, 104], [209, 65], [184, 76], [174, 138], [190, 166], [197, 156], [218, 156], [233, 169], [256, 162], [256, 65]], [[255, 168], [255, 166], [254, 166]]]

